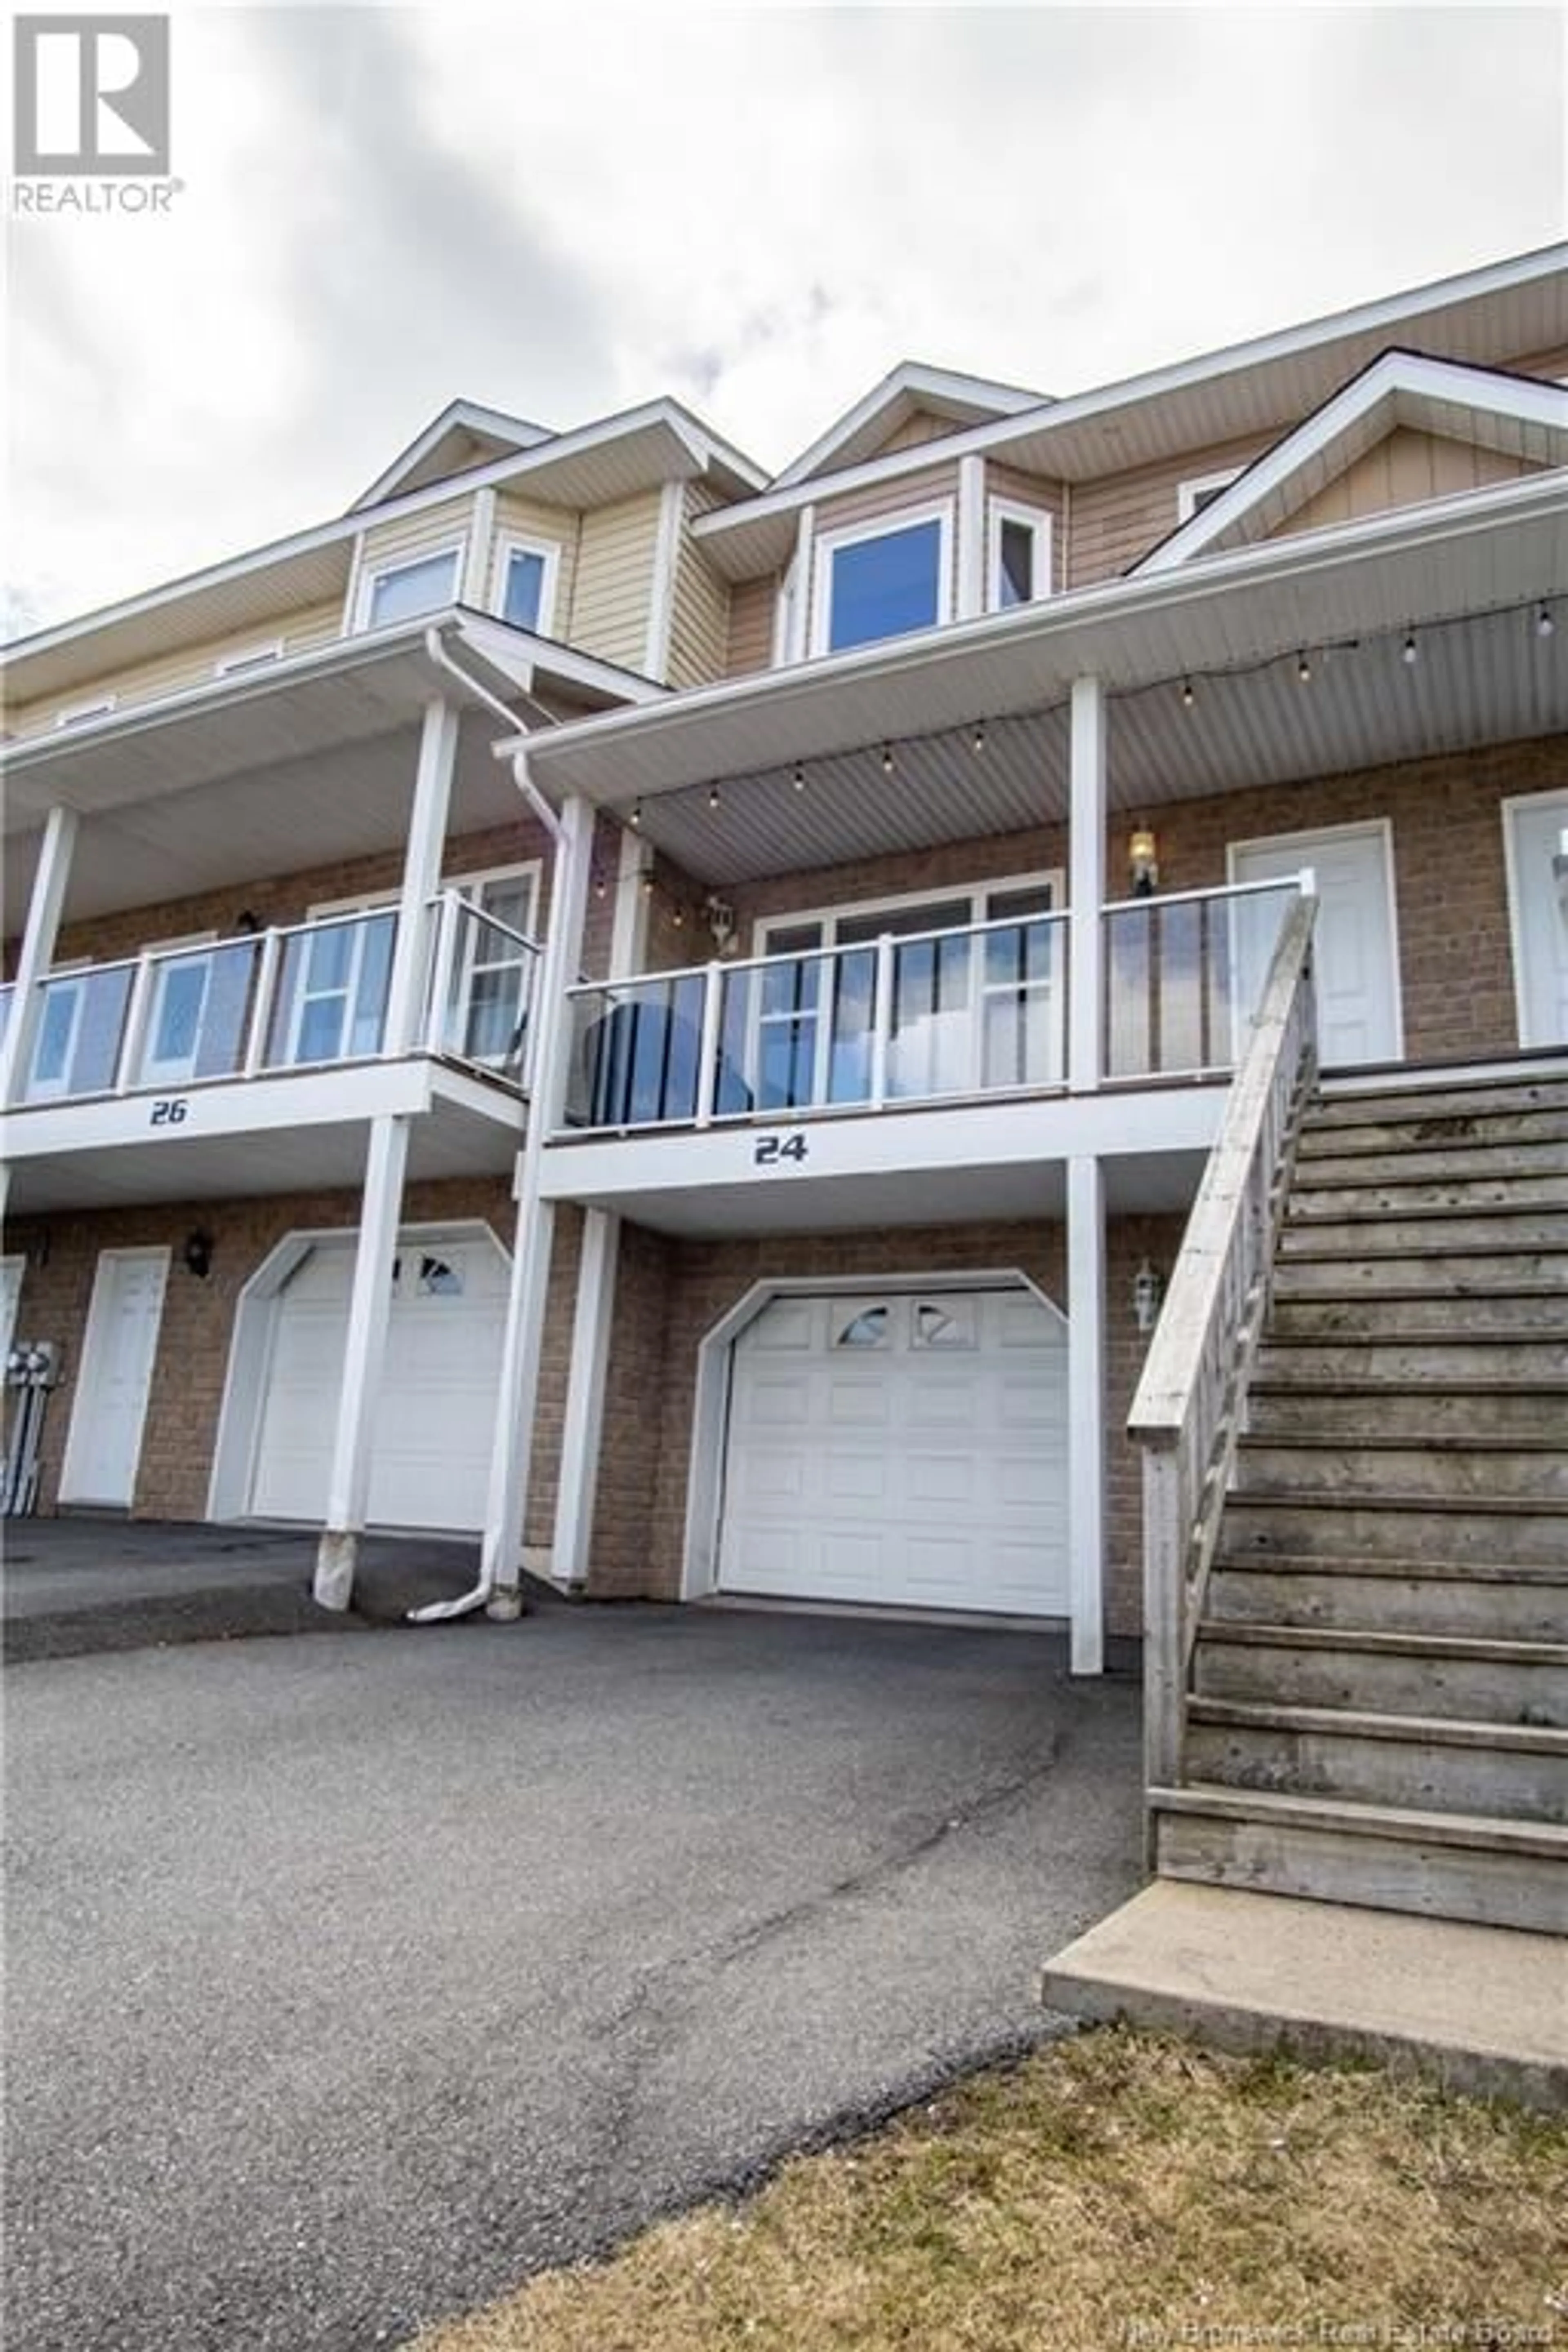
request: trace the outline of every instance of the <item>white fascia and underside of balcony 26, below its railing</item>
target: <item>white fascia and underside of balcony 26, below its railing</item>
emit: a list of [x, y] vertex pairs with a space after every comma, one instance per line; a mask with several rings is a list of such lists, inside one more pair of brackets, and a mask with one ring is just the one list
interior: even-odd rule
[[416, 1056], [12, 1112], [7, 1214], [357, 1190], [367, 1124], [388, 1112], [411, 1120], [411, 1183], [512, 1171], [522, 1098]]

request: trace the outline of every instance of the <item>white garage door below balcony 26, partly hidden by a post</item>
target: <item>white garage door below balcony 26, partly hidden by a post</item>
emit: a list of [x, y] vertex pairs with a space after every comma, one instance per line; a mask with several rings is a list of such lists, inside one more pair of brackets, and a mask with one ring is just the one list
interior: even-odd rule
[[[336, 1432], [353, 1242], [317, 1242], [277, 1296], [252, 1510], [320, 1519]], [[376, 1411], [374, 1526], [482, 1529], [508, 1265], [484, 1235], [397, 1247]]]

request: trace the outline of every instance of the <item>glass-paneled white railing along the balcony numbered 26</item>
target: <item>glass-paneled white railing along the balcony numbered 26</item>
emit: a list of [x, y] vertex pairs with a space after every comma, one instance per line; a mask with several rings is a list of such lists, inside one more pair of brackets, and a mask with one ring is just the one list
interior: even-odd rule
[[[430, 906], [411, 1051], [524, 1082], [538, 948], [456, 891]], [[148, 948], [40, 983], [24, 1103], [273, 1077], [388, 1051], [397, 910]], [[14, 990], [7, 990], [7, 997]]]

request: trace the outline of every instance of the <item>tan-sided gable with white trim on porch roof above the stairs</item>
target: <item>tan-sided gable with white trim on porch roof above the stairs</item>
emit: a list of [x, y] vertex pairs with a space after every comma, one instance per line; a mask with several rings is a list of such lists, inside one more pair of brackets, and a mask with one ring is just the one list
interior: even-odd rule
[[1234, 480], [1201, 485], [1201, 503], [1133, 569], [1173, 572], [1199, 555], [1566, 463], [1561, 386], [1385, 350]]

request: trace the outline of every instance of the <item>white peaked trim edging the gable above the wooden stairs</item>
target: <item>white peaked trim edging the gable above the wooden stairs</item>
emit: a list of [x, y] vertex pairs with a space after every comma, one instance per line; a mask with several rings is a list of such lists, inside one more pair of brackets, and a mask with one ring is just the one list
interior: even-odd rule
[[[1204, 555], [1246, 515], [1267, 508], [1272, 499], [1284, 499], [1291, 480], [1349, 435], [1356, 423], [1375, 426], [1387, 414], [1392, 430], [1396, 423], [1420, 423], [1427, 407], [1446, 419], [1448, 437], [1455, 433], [1455, 409], [1476, 416], [1507, 416], [1537, 435], [1568, 435], [1568, 393], [1554, 383], [1540, 383], [1535, 376], [1507, 376], [1460, 360], [1427, 360], [1410, 350], [1385, 350], [1321, 409], [1314, 409], [1305, 423], [1244, 466], [1229, 489], [1222, 489], [1218, 499], [1211, 499], [1133, 564], [1133, 576], [1171, 572], [1194, 555]], [[1544, 442], [1542, 456], [1549, 461]], [[1286, 508], [1286, 513], [1291, 510]]]

